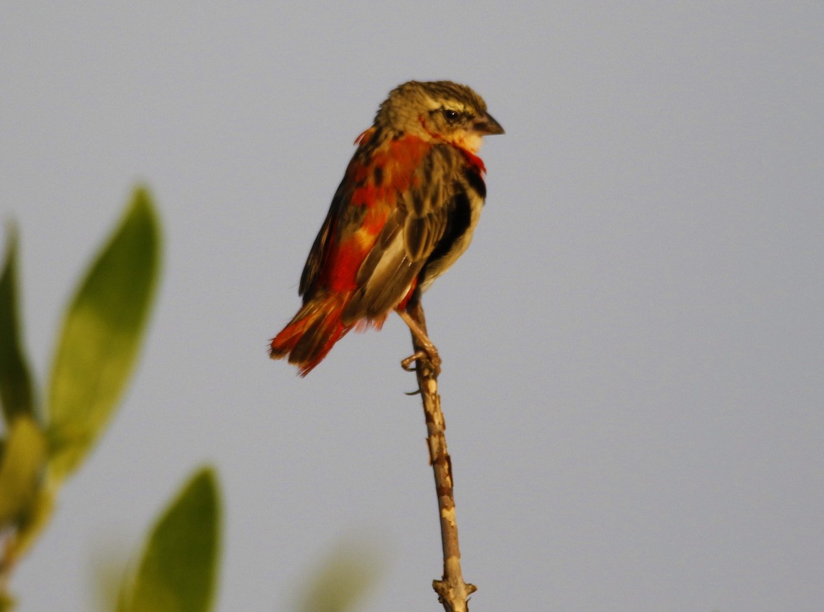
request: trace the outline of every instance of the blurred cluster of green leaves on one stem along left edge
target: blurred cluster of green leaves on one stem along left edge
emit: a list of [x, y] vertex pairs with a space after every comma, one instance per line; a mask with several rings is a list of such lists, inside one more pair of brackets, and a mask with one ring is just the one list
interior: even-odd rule
[[7, 231], [0, 275], [0, 612], [11, 610], [8, 581], [48, 523], [63, 480], [86, 459], [123, 390], [143, 341], [160, 267], [152, 201], [134, 191], [124, 218], [91, 262], [66, 308], [42, 411], [22, 346], [17, 233]]

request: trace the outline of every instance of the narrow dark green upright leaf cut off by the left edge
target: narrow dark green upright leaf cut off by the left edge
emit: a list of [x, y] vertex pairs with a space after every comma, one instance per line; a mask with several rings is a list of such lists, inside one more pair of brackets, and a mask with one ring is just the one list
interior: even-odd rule
[[7, 424], [15, 417], [34, 414], [34, 398], [26, 357], [20, 342], [17, 316], [17, 233], [7, 231], [6, 265], [0, 277], [0, 403]]

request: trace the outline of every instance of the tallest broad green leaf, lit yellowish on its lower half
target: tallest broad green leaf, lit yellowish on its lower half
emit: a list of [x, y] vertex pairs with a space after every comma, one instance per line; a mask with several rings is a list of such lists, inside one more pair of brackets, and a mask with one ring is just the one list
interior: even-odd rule
[[157, 284], [159, 242], [151, 200], [138, 189], [68, 306], [49, 388], [55, 481], [84, 459], [129, 380]]

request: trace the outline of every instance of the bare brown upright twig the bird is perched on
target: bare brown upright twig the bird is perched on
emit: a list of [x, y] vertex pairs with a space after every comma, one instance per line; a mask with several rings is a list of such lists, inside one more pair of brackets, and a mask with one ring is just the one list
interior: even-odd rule
[[[414, 319], [426, 335], [424, 308], [420, 304], [420, 294], [416, 292], [406, 312]], [[412, 346], [419, 354], [427, 352], [418, 335], [412, 334]], [[437, 353], [435, 354], [437, 355]], [[432, 583], [438, 593], [438, 601], [447, 612], [468, 612], [467, 600], [477, 591], [475, 585], [467, 584], [461, 574], [461, 551], [458, 548], [458, 525], [455, 518], [455, 496], [452, 491], [452, 460], [447, 452], [447, 438], [444, 433], [447, 426], [441, 412], [441, 396], [438, 395], [438, 364], [433, 367], [423, 356], [417, 360], [415, 373], [418, 376], [418, 388], [424, 403], [424, 417], [428, 432], [429, 463], [435, 474], [435, 492], [438, 494], [438, 511], [441, 516], [441, 541], [443, 545], [443, 577]]]

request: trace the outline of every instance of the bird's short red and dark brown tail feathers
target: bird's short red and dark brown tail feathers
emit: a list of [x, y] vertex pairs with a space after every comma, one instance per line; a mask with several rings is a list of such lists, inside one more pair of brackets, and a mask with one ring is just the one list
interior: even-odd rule
[[292, 321], [272, 340], [269, 356], [283, 359], [288, 355], [289, 363], [298, 366], [298, 374], [309, 374], [335, 342], [352, 328], [343, 321], [348, 299], [347, 294], [325, 294], [303, 304]]

